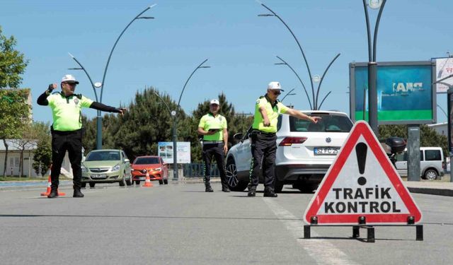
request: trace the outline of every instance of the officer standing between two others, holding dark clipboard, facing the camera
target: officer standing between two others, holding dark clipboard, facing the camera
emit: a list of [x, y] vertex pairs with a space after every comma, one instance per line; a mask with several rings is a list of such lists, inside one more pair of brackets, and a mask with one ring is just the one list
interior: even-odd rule
[[210, 101], [210, 112], [201, 117], [198, 124], [198, 134], [203, 136], [203, 176], [205, 181], [205, 192], [213, 192], [211, 187], [210, 168], [212, 156], [214, 156], [217, 167], [219, 167], [222, 192], [230, 192], [226, 182], [224, 155], [228, 151], [228, 131], [226, 130], [226, 119], [219, 114], [219, 100]]

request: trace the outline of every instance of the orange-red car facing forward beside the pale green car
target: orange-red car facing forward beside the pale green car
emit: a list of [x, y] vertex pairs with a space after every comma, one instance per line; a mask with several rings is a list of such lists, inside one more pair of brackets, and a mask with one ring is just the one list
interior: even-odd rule
[[159, 184], [168, 184], [168, 167], [160, 156], [137, 156], [131, 166], [132, 182], [140, 184], [149, 174], [149, 179], [159, 180]]

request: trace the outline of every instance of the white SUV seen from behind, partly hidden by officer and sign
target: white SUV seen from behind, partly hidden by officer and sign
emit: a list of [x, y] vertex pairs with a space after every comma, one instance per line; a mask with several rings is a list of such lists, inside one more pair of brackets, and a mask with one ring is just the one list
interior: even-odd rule
[[[352, 129], [352, 121], [344, 112], [302, 112], [322, 119], [314, 124], [287, 114], [278, 118], [275, 192], [281, 192], [284, 184], [293, 184], [302, 192], [316, 189]], [[234, 191], [243, 191], [249, 182], [250, 132], [251, 129], [246, 134], [235, 134], [239, 143], [226, 154], [226, 177]]]

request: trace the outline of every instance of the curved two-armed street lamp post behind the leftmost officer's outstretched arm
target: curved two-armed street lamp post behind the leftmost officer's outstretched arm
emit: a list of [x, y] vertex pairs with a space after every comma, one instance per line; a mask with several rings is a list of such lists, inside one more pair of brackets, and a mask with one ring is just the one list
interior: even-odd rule
[[[113, 45], [112, 49], [110, 50], [110, 54], [108, 55], [108, 59], [107, 59], [107, 63], [105, 64], [105, 69], [104, 69], [103, 78], [102, 78], [102, 82], [101, 83], [99, 83], [99, 82], [93, 83], [93, 80], [89, 76], [89, 74], [86, 71], [85, 67], [76, 59], [76, 57], [74, 57], [72, 54], [69, 54], [72, 57], [72, 59], [74, 59], [74, 61], [76, 61], [76, 63], [79, 64], [79, 66], [80, 66], [80, 68], [70, 68], [70, 69], [71, 70], [83, 70], [85, 72], [86, 76], [88, 76], [88, 79], [89, 79], [89, 81], [91, 83], [91, 86], [93, 87], [94, 95], [96, 96], [96, 101], [102, 103], [102, 95], [103, 95], [103, 90], [104, 90], [104, 85], [105, 85], [105, 76], [107, 74], [108, 65], [110, 64], [110, 59], [112, 57], [113, 51], [115, 50], [115, 47], [116, 47], [118, 41], [120, 40], [122, 35], [125, 33], [127, 28], [129, 28], [129, 26], [135, 20], [137, 20], [137, 19], [154, 19], [154, 17], [152, 17], [152, 16], [142, 16], [143, 13], [148, 11], [150, 8], [153, 8], [154, 6], [156, 6], [156, 4], [148, 6], [147, 8], [144, 9], [144, 11], [140, 12], [137, 16], [135, 16], [135, 18], [133, 18], [130, 21], [130, 23], [127, 24], [126, 28], [124, 30], [122, 30], [120, 35], [117, 37], [117, 39], [115, 41], [115, 44]], [[99, 100], [98, 100], [98, 95], [96, 93], [96, 89], [95, 88], [101, 88], [101, 97], [99, 98]], [[101, 110], [97, 110], [97, 116], [96, 116], [96, 149], [102, 149], [102, 116], [101, 116]]]

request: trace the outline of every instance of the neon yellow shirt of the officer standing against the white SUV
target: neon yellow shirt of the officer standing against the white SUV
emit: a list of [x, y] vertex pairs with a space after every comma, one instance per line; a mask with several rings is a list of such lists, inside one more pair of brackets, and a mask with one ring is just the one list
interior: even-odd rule
[[[265, 112], [268, 114], [270, 126], [264, 126], [263, 115], [261, 115], [260, 107], [265, 107]], [[267, 97], [263, 96], [256, 100], [255, 117], [253, 118], [253, 129], [260, 131], [275, 133], [277, 132], [277, 121], [280, 113], [286, 113], [288, 107], [280, 103], [278, 100], [271, 104]]]

